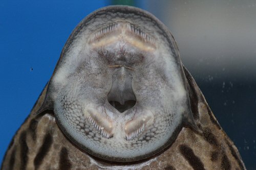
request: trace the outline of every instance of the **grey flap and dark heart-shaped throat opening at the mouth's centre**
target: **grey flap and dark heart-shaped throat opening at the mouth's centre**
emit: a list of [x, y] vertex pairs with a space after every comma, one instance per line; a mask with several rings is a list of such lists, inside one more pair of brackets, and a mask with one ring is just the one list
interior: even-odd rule
[[[132, 75], [130, 71], [127, 70], [127, 68], [125, 68], [124, 66], [116, 68], [116, 70], [117, 71], [112, 77], [113, 84], [108, 94], [108, 101], [110, 102], [111, 105], [118, 105], [118, 104], [122, 105], [122, 106], [114, 106], [117, 109], [122, 107], [121, 109], [121, 112], [122, 112], [131, 108], [129, 106], [135, 104], [134, 102], [136, 101], [136, 98], [132, 89]], [[131, 102], [131, 101], [134, 101], [134, 102]]]

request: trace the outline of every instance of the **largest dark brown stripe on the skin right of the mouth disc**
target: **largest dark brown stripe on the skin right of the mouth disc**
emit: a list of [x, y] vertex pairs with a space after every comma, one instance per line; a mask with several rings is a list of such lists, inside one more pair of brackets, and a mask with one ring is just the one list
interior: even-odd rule
[[204, 165], [201, 160], [194, 154], [193, 150], [187, 145], [180, 145], [180, 152], [188, 163], [197, 170], [204, 170]]

